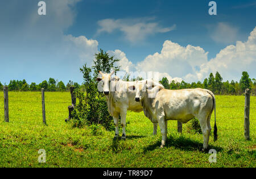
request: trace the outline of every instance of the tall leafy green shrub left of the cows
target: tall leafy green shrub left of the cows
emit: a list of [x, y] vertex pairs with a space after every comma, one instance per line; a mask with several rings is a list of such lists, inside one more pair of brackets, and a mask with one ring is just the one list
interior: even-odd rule
[[92, 68], [87, 67], [86, 64], [80, 68], [84, 77], [86, 94], [80, 90], [75, 91], [75, 96], [79, 102], [73, 111], [73, 126], [101, 124], [110, 130], [113, 128], [113, 118], [109, 115], [105, 95], [97, 89], [96, 78], [99, 70], [110, 73], [110, 69], [114, 68], [115, 72], [118, 71], [119, 67], [114, 66], [114, 63], [119, 59], [114, 59], [113, 56], [109, 57], [108, 53], [102, 49], [95, 54], [95, 57], [96, 60], [94, 60]]

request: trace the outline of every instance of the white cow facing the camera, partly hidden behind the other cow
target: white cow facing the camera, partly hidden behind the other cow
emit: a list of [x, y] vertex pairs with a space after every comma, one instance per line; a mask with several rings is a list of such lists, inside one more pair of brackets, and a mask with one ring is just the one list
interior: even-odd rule
[[[121, 116], [121, 126], [123, 129], [122, 139], [126, 138], [125, 133], [125, 124], [126, 124], [126, 113], [127, 110], [134, 112], [141, 112], [142, 106], [140, 103], [135, 102], [135, 84], [136, 81], [122, 81], [118, 77], [111, 78], [114, 71], [111, 73], [102, 73], [99, 72], [97, 81], [102, 81], [103, 92], [106, 95], [106, 102], [108, 104], [108, 111], [111, 116], [113, 116], [114, 124], [115, 124], [115, 138], [119, 136], [118, 130], [118, 115]], [[153, 80], [148, 80], [152, 82], [155, 86], [161, 86], [159, 82], [155, 82]], [[139, 81], [146, 82], [146, 80]], [[154, 123], [154, 132], [156, 134], [157, 123]]]

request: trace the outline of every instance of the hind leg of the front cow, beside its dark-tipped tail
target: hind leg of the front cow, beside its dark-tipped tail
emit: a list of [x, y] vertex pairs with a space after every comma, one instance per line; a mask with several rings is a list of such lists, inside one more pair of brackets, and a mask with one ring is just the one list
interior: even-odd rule
[[199, 119], [201, 130], [204, 137], [203, 152], [205, 152], [208, 149], [210, 131], [212, 130], [212, 128], [210, 127], [210, 115], [211, 114]]

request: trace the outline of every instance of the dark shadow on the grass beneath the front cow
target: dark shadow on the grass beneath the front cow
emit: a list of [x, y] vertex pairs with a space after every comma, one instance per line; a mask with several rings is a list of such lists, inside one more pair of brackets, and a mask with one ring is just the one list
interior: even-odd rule
[[[161, 138], [162, 139], [162, 138]], [[144, 147], [144, 153], [147, 151], [154, 151], [154, 149], [159, 148], [161, 145], [161, 140], [157, 141], [154, 144], [148, 145]], [[174, 136], [169, 136], [166, 141], [165, 148], [175, 147], [180, 149], [181, 151], [201, 151], [203, 149], [203, 140], [202, 142], [198, 142], [195, 140], [191, 140], [190, 138], [186, 138], [185, 136], [179, 136], [178, 138], [174, 138]], [[208, 149], [215, 149], [216, 151], [222, 151], [221, 147], [216, 147], [213, 145], [208, 146]], [[208, 151], [206, 151], [208, 152]]]

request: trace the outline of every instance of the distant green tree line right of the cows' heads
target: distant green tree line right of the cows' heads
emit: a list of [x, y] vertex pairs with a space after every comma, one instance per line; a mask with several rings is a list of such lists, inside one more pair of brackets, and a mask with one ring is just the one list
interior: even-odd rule
[[220, 95], [241, 95], [245, 92], [245, 89], [249, 88], [251, 90], [251, 94], [256, 94], [256, 80], [255, 78], [249, 78], [249, 74], [247, 72], [242, 72], [242, 77], [239, 82], [225, 81], [223, 82], [223, 78], [221, 74], [216, 72], [215, 76], [213, 73], [210, 73], [209, 78], [205, 78], [203, 83], [201, 81], [192, 82], [189, 84], [188, 82], [169, 82], [166, 77], [162, 78], [159, 81], [164, 88], [166, 89], [189, 89], [189, 88], [204, 88], [211, 90], [214, 94]]

